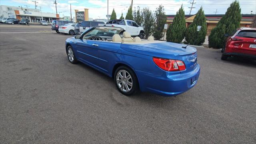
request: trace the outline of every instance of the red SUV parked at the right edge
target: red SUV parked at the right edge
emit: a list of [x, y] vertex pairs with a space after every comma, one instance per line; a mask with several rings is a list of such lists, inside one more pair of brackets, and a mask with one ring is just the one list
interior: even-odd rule
[[222, 49], [222, 60], [229, 56], [242, 56], [256, 59], [256, 28], [238, 28], [227, 36], [226, 46]]

